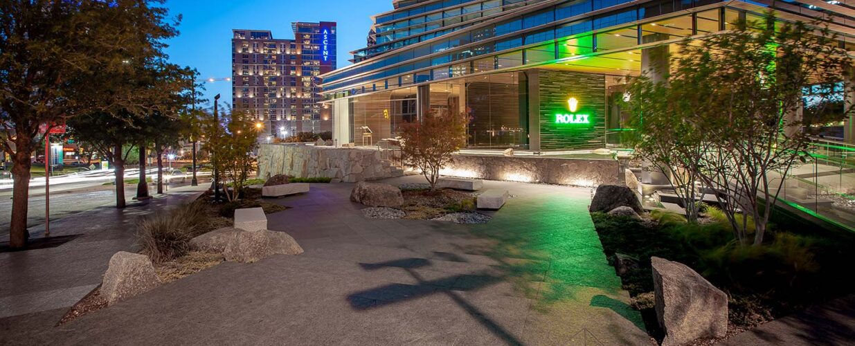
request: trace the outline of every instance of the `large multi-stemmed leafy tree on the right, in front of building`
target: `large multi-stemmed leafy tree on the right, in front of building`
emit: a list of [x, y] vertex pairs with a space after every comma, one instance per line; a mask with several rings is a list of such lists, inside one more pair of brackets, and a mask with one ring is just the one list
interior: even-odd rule
[[[799, 116], [803, 88], [819, 85], [816, 104], [830, 107], [834, 103], [823, 101], [834, 98], [834, 85], [849, 73], [852, 59], [827, 27], [778, 22], [771, 13], [764, 21], [736, 23], [735, 30], [685, 41], [679, 48], [667, 83], [651, 86], [639, 79], [634, 87], [647, 97], [639, 102], [652, 104], [636, 108], [640, 135], [662, 138], [663, 153], [674, 156], [666, 162], [696, 172], [716, 191], [740, 243], [763, 243], [782, 175], [806, 161], [811, 138], [804, 127], [828, 121]], [[660, 103], [671, 103], [663, 106], [672, 113], [662, 121], [656, 119]], [[810, 113], [825, 114], [813, 108]], [[657, 128], [668, 123], [675, 135]]]

